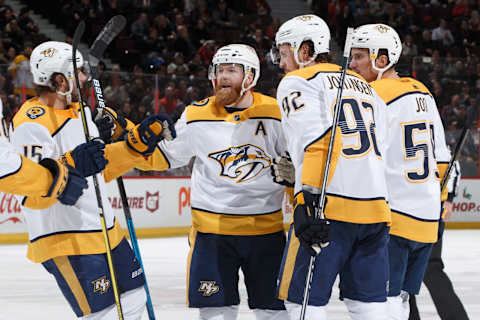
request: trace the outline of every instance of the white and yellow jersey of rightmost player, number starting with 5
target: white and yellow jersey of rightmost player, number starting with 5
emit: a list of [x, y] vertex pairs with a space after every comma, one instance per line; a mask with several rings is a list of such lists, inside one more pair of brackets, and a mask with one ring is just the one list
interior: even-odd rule
[[436, 242], [441, 216], [440, 179], [450, 152], [437, 105], [412, 78], [370, 83], [387, 105], [386, 176], [392, 210], [390, 233]]

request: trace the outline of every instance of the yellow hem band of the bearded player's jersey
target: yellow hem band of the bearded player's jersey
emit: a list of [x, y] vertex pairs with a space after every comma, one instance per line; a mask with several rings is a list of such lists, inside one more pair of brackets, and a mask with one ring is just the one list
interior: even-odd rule
[[283, 214], [278, 210], [258, 215], [232, 215], [192, 208], [192, 227], [203, 233], [261, 235], [283, 230]]

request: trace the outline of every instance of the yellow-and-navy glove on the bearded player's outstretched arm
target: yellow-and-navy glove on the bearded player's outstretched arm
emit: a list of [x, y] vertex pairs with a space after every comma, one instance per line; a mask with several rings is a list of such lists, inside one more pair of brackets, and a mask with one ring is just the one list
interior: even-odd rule
[[130, 130], [125, 141], [133, 151], [149, 156], [161, 140], [173, 140], [176, 136], [172, 119], [166, 114], [155, 114]]

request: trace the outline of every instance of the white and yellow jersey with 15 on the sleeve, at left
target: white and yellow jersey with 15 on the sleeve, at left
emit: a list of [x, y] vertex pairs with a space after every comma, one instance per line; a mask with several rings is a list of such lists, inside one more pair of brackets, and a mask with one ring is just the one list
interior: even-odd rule
[[[41, 104], [37, 98], [30, 99], [14, 117], [11, 142], [35, 161], [44, 157], [58, 159], [85, 142], [79, 110], [78, 103], [69, 109], [58, 110]], [[85, 107], [85, 112], [90, 134], [98, 136], [89, 108]], [[107, 148], [118, 149], [118, 146], [121, 144], [108, 145]], [[109, 171], [115, 167], [116, 159], [125, 157], [117, 149], [113, 157], [107, 148], [105, 157], [109, 159], [109, 164], [106, 171]], [[93, 179], [89, 177], [87, 180], [88, 189], [84, 190], [75, 206], [65, 206], [56, 199], [40, 196], [22, 199], [29, 234], [27, 257], [30, 260], [43, 262], [57, 256], [105, 252]], [[105, 182], [103, 179], [98, 182], [101, 193], [105, 195]], [[115, 220], [107, 197], [102, 200], [110, 244], [115, 248], [124, 233]]]

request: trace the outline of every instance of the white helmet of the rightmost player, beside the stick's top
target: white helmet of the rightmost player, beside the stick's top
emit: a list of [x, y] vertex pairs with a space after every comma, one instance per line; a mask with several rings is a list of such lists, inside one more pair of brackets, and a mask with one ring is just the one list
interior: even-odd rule
[[[402, 42], [398, 33], [385, 24], [366, 24], [356, 28], [352, 36], [352, 48], [368, 49], [372, 68], [378, 71], [378, 79], [383, 72], [395, 65], [402, 54]], [[380, 49], [386, 49], [389, 63], [384, 68], [375, 66]]]

